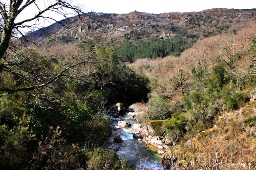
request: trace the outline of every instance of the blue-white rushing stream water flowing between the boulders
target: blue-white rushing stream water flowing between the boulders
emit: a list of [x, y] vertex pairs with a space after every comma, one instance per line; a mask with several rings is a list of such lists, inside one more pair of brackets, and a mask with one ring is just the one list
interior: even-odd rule
[[[116, 154], [120, 158], [128, 160], [130, 164], [136, 166], [138, 170], [163, 170], [162, 165], [159, 163], [160, 155], [156, 153], [153, 149], [150, 149], [150, 146], [146, 145], [142, 141], [138, 141], [133, 138], [133, 133], [136, 132], [132, 127], [134, 124], [138, 123], [137, 121], [130, 120], [131, 115], [125, 114], [120, 116], [124, 121], [128, 121], [131, 124], [129, 128], [120, 128], [120, 137], [124, 140], [121, 143], [121, 147]], [[117, 122], [114, 123], [117, 127]], [[152, 148], [152, 147], [151, 147]]]

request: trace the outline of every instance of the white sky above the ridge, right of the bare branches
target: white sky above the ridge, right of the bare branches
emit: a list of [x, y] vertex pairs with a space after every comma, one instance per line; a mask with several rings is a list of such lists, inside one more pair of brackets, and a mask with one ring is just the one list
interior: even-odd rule
[[164, 12], [200, 12], [211, 8], [256, 8], [256, 0], [80, 0], [87, 11], [127, 14], [133, 11], [160, 14]]

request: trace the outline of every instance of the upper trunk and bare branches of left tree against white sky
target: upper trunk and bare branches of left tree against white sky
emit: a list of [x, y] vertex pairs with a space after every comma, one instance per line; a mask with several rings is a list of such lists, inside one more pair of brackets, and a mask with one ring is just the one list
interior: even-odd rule
[[[37, 13], [24, 20], [18, 21], [22, 12], [30, 12], [29, 8], [34, 6], [37, 9]], [[22, 36], [21, 28], [38, 29], [38, 21], [52, 20], [58, 22], [53, 16], [62, 15], [64, 18], [68, 18], [69, 14], [67, 10], [72, 10], [78, 16], [85, 14], [78, 8], [78, 6], [72, 5], [72, 0], [9, 0], [9, 3], [0, 1], [0, 14], [1, 14], [1, 40], [0, 40], [0, 59], [4, 57], [4, 53], [10, 47], [10, 40], [14, 36], [14, 31], [20, 33]], [[51, 14], [49, 13], [51, 12]], [[32, 24], [32, 22], [34, 24]]]

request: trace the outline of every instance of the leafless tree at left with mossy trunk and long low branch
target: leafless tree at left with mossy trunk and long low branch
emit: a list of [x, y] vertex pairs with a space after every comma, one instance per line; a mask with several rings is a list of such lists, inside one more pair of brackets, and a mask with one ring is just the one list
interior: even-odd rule
[[[91, 56], [83, 56], [80, 57], [79, 61], [67, 64], [59, 73], [48, 73], [47, 70], [39, 68], [40, 65], [36, 64], [39, 61], [42, 62], [40, 55], [37, 54], [36, 59], [31, 59], [28, 54], [20, 53], [20, 51], [12, 48], [12, 43], [16, 40], [26, 39], [21, 29], [38, 29], [40, 28], [40, 25], [38, 25], [40, 20], [58, 22], [54, 18], [58, 14], [62, 15], [68, 21], [69, 14], [71, 14], [68, 11], [77, 14], [81, 20], [83, 15], [90, 16], [90, 14], [82, 12], [72, 2], [72, 0], [0, 0], [0, 74], [9, 73], [26, 82], [22, 83], [22, 85], [12, 87], [3, 87], [1, 85], [0, 91], [2, 93], [0, 93], [0, 96], [16, 91], [29, 93], [28, 91], [33, 91], [41, 87], [49, 87], [49, 84], [54, 83], [60, 77], [64, 76], [64, 73], [68, 69], [72, 69], [83, 63], [92, 62]], [[29, 10], [32, 6], [37, 10], [37, 13], [35, 15], [31, 14], [30, 17], [24, 20], [19, 20], [22, 13], [30, 13]], [[60, 22], [60, 24], [68, 27], [64, 22]], [[17, 34], [19, 35], [17, 36]], [[10, 52], [8, 55], [7, 51]]]

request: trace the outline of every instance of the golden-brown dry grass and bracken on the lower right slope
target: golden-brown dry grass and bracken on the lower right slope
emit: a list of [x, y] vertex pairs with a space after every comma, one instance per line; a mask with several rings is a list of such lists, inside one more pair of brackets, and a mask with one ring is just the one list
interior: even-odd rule
[[[224, 113], [213, 128], [196, 135], [187, 134], [187, 142], [174, 148], [180, 169], [244, 170], [256, 168], [256, 128], [246, 125], [256, 115], [251, 103], [240, 111]], [[166, 156], [172, 155], [172, 151]]]

